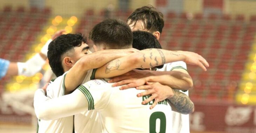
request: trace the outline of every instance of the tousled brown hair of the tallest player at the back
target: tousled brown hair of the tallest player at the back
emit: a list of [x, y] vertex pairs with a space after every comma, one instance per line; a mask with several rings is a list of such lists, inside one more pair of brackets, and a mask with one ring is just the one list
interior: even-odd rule
[[156, 10], [153, 6], [143, 6], [137, 8], [133, 13], [127, 18], [128, 25], [137, 21], [142, 21], [145, 25], [145, 28], [150, 32], [159, 31], [162, 33], [164, 21], [163, 14]]

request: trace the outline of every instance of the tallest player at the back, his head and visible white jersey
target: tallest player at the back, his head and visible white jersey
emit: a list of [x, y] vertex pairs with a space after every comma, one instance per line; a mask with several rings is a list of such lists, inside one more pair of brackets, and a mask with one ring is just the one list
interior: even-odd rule
[[[153, 6], [143, 6], [133, 11], [127, 18], [127, 24], [132, 31], [148, 31], [159, 40], [164, 27], [163, 14]], [[179, 71], [188, 74], [187, 65], [182, 61], [165, 64], [159, 71]], [[184, 93], [188, 95], [188, 91]], [[189, 115], [174, 112], [173, 123], [173, 132], [189, 132]]]

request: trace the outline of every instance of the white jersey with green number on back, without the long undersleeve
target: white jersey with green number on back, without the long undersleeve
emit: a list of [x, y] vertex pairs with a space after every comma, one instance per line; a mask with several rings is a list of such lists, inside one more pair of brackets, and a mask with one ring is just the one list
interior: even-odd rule
[[[78, 88], [88, 101], [88, 110], [98, 110], [109, 133], [170, 133], [172, 111], [167, 100], [149, 109], [153, 101], [143, 105], [149, 96], [137, 97], [144, 90], [120, 90], [105, 79], [90, 80]], [[86, 101], [86, 102], [87, 102]]]

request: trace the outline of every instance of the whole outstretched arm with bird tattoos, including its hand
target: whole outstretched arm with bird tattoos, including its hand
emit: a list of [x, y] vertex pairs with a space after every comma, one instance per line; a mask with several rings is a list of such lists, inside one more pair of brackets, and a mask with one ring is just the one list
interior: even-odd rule
[[193, 52], [145, 49], [107, 63], [97, 69], [95, 78], [110, 78], [136, 68], [152, 68], [175, 61], [185, 61], [188, 64], [198, 65], [204, 70], [206, 70], [205, 66], [208, 66], [207, 61], [202, 56]]

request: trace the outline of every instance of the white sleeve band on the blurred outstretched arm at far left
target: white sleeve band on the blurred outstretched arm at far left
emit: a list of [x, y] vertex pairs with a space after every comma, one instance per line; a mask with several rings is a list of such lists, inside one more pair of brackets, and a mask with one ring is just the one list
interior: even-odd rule
[[45, 60], [39, 54], [35, 54], [25, 63], [17, 62], [18, 75], [33, 76], [42, 69], [44, 64]]

